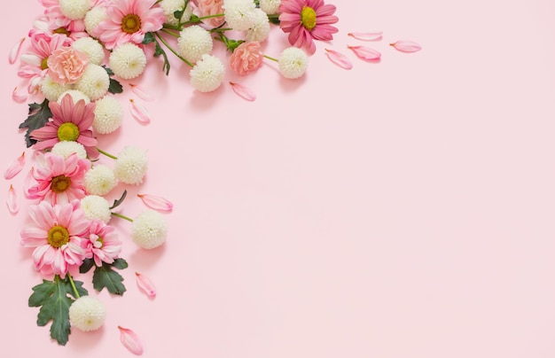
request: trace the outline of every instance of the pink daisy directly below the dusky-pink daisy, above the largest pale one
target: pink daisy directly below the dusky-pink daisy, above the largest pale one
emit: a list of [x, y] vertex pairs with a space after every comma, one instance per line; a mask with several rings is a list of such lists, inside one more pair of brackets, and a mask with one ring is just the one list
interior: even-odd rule
[[40, 166], [33, 170], [36, 184], [27, 190], [28, 198], [38, 198], [56, 204], [66, 204], [85, 196], [84, 176], [90, 160], [82, 160], [76, 153], [67, 159], [51, 152], [37, 152]]

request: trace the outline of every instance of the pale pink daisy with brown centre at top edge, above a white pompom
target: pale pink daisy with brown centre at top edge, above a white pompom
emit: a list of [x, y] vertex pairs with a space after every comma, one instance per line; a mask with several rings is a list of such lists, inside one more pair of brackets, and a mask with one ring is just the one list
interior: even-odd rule
[[113, 0], [106, 8], [106, 19], [95, 28], [94, 34], [112, 50], [122, 43], [140, 44], [145, 34], [160, 30], [164, 25], [164, 11], [152, 7], [156, 0]]

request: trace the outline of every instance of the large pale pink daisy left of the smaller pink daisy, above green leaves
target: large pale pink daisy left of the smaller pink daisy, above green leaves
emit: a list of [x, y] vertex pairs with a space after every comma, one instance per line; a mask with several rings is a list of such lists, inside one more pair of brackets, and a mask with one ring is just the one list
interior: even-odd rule
[[35, 247], [35, 269], [44, 276], [66, 276], [70, 267], [78, 267], [85, 258], [83, 238], [90, 222], [78, 208], [79, 202], [52, 206], [43, 201], [29, 207], [33, 220], [21, 230], [21, 245]]

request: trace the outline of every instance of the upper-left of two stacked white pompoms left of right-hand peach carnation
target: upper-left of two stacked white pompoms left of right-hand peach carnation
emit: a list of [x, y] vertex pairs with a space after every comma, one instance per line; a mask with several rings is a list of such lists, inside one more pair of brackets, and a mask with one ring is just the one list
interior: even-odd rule
[[210, 53], [213, 46], [212, 36], [199, 25], [185, 27], [177, 39], [177, 51], [192, 63], [199, 61], [202, 55]]

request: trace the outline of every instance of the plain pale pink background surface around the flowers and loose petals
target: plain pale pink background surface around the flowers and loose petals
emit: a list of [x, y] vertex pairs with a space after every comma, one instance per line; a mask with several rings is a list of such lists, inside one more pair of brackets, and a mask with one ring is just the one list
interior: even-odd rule
[[[155, 96], [147, 127], [130, 116], [126, 87], [123, 126], [100, 147], [141, 146], [150, 167], [121, 213], [145, 208], [139, 192], [175, 210], [166, 245], [152, 251], [113, 220], [129, 261], [123, 297], [76, 277], [106, 303], [101, 330], [74, 329], [62, 347], [35, 325], [27, 299], [41, 278], [19, 244], [27, 203], [16, 216], [0, 210], [3, 355], [132, 356], [121, 325], [147, 357], [555, 356], [555, 3], [334, 4], [340, 32], [317, 43], [301, 81], [266, 61], [201, 94], [185, 66], [172, 59], [166, 77], [155, 60], [139, 81]], [[17, 127], [27, 116], [6, 58], [40, 12], [20, 0], [0, 15], [2, 172], [25, 149]], [[372, 30], [384, 40], [347, 35]], [[276, 57], [285, 38], [274, 28], [265, 53]], [[395, 51], [396, 40], [423, 50]], [[382, 60], [363, 62], [347, 44]], [[334, 66], [324, 48], [354, 68]], [[237, 97], [229, 81], [258, 98]], [[3, 201], [24, 176], [3, 179]], [[135, 271], [156, 284], [154, 300]]]

